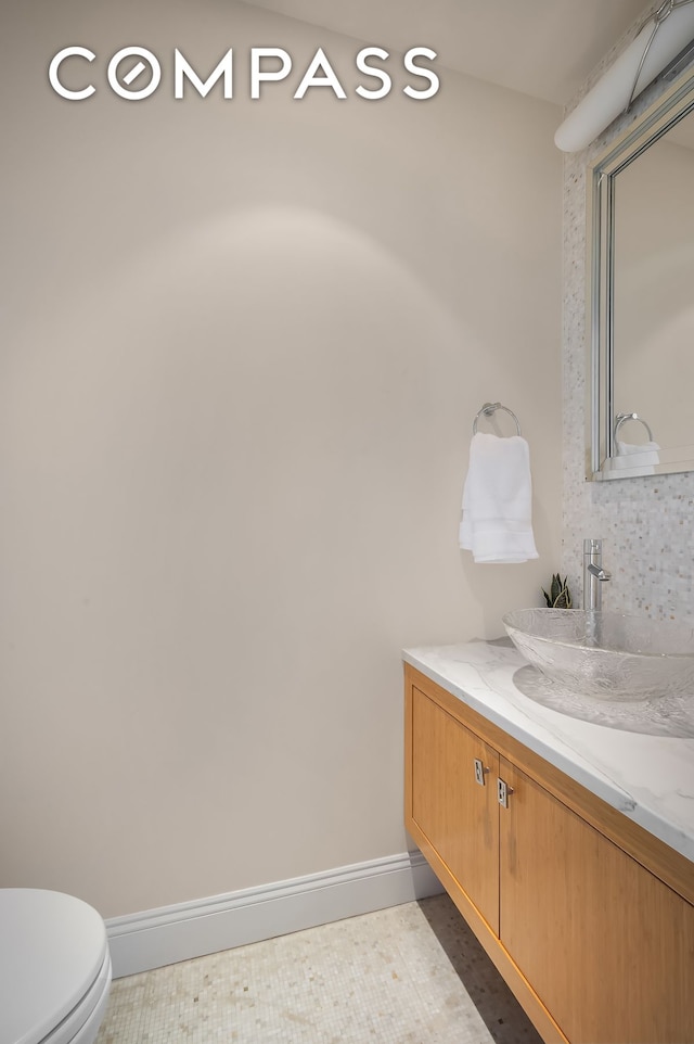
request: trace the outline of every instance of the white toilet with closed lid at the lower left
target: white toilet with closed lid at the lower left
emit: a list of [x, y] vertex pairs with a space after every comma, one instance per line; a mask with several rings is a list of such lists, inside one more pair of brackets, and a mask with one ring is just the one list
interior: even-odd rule
[[62, 892], [0, 889], [2, 1044], [92, 1044], [110, 988], [95, 909]]

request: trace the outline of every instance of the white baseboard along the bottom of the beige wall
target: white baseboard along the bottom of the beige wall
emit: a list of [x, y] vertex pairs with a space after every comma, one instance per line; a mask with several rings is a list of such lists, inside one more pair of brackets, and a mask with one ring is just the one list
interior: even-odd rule
[[442, 891], [420, 852], [112, 917], [114, 978], [231, 950]]

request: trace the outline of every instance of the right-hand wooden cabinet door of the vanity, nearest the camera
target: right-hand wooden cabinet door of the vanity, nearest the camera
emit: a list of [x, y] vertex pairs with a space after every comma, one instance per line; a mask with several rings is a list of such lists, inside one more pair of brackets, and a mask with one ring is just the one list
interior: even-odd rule
[[571, 1044], [694, 1041], [694, 907], [501, 759], [500, 935]]

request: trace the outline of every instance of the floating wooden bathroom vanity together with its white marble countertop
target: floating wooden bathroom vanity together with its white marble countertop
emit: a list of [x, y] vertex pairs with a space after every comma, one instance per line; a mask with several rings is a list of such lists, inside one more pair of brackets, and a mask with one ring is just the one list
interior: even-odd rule
[[694, 730], [557, 713], [505, 640], [403, 659], [408, 831], [542, 1037], [694, 1042]]

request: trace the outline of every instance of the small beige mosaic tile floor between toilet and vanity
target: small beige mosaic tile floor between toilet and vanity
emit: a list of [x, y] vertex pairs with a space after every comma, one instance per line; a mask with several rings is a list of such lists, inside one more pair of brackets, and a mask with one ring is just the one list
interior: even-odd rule
[[447, 895], [117, 979], [95, 1044], [541, 1044]]

